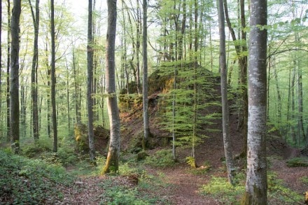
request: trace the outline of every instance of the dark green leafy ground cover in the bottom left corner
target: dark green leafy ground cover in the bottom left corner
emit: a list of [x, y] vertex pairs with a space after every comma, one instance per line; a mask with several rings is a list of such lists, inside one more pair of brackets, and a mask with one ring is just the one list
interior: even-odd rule
[[73, 177], [63, 167], [29, 160], [0, 150], [0, 202], [52, 204], [62, 199], [59, 189]]

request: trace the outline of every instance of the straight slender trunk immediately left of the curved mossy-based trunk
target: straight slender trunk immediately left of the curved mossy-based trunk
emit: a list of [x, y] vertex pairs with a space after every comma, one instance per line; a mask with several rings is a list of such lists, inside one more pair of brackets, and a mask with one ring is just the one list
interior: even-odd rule
[[88, 1], [87, 20], [87, 128], [90, 148], [90, 160], [95, 162], [94, 132], [93, 132], [93, 37], [92, 37], [92, 0]]

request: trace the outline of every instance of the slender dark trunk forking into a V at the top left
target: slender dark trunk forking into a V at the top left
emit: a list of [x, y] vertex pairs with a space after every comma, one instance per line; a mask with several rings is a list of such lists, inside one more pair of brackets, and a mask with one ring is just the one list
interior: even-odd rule
[[31, 67], [31, 100], [32, 100], [32, 120], [33, 120], [33, 135], [34, 141], [38, 140], [38, 97], [37, 97], [37, 67], [38, 67], [38, 25], [39, 25], [39, 0], [36, 0], [35, 14], [29, 0], [31, 15], [34, 24], [34, 48]]

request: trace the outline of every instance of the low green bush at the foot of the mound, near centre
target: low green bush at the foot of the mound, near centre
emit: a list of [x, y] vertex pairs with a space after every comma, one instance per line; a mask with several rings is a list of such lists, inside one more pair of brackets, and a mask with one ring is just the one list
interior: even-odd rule
[[172, 150], [158, 150], [155, 154], [146, 157], [144, 163], [152, 167], [172, 167], [176, 164]]

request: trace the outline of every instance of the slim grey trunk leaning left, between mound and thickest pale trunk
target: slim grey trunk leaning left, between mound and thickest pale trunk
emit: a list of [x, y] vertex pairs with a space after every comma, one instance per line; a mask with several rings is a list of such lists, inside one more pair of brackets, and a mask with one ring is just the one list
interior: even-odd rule
[[220, 67], [221, 67], [221, 104], [223, 112], [223, 146], [225, 149], [225, 164], [228, 171], [228, 181], [233, 184], [233, 170], [235, 169], [232, 157], [231, 136], [229, 132], [229, 106], [228, 106], [228, 83], [227, 62], [225, 55], [225, 15], [223, 13], [223, 0], [218, 1], [218, 20], [220, 34]]

